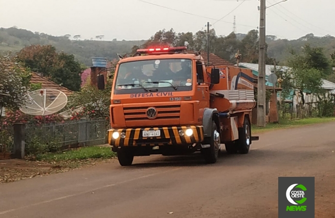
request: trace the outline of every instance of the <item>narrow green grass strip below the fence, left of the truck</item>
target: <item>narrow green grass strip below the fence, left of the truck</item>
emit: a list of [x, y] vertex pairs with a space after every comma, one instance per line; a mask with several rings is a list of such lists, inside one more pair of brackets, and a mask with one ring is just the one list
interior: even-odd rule
[[36, 160], [46, 162], [61, 162], [88, 159], [110, 159], [115, 156], [116, 154], [111, 151], [110, 147], [94, 146], [69, 150], [62, 153], [38, 155]]

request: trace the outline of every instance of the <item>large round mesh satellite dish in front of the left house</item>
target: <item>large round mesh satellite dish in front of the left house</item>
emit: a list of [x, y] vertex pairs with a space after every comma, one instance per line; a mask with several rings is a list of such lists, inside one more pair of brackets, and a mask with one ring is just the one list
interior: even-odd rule
[[46, 116], [58, 112], [67, 105], [67, 95], [56, 89], [39, 89], [25, 95], [23, 113]]

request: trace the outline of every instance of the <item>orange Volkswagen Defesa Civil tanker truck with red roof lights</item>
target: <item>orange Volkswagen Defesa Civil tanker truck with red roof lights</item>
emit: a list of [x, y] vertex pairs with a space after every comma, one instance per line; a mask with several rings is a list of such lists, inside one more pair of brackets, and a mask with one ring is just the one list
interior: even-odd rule
[[134, 156], [194, 152], [215, 163], [222, 144], [229, 154], [247, 154], [258, 140], [251, 136], [252, 71], [210, 66], [186, 49], [138, 49], [117, 63], [108, 141], [121, 166]]

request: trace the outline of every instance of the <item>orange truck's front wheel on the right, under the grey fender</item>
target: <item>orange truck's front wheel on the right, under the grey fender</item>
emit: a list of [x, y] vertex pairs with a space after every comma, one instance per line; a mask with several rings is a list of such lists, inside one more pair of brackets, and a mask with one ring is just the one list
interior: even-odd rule
[[208, 164], [216, 163], [218, 160], [218, 153], [220, 150], [220, 134], [217, 129], [217, 125], [213, 121], [211, 137], [208, 138], [208, 141], [206, 141], [206, 143], [210, 144], [210, 147], [201, 149], [201, 153]]

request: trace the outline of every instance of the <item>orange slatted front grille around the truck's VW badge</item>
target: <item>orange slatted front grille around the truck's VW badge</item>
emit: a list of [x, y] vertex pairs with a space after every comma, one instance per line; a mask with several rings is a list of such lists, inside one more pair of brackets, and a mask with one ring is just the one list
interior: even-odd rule
[[[147, 117], [148, 107], [125, 107], [123, 108], [124, 117], [126, 121], [139, 121], [139, 120], [149, 120]], [[166, 106], [156, 106], [157, 117], [155, 120], [163, 119], [179, 119], [180, 118], [180, 105], [166, 105]]]

